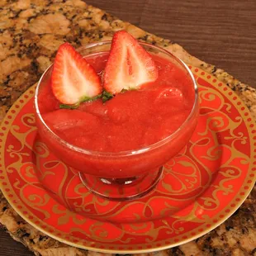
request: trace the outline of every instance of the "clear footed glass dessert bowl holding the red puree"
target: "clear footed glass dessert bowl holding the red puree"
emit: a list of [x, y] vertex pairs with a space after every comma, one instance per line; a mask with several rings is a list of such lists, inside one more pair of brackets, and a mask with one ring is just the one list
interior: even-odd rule
[[[190, 102], [190, 111], [185, 118], [183, 116], [183, 121], [180, 126], [168, 135], [165, 135], [163, 139], [154, 141], [152, 144], [142, 145], [135, 149], [110, 151], [106, 149], [97, 150], [97, 148], [88, 149], [74, 145], [67, 140], [66, 136], [56, 134], [55, 130], [50, 128], [47, 120], [44, 118], [42, 106], [50, 105], [51, 102], [43, 93], [45, 88], [50, 87], [53, 65], [43, 73], [36, 88], [36, 126], [41, 139], [59, 159], [69, 167], [78, 170], [79, 177], [83, 184], [88, 187], [91, 192], [109, 200], [131, 200], [143, 197], [152, 191], [159, 182], [159, 178], [161, 178], [163, 165], [187, 145], [187, 142], [190, 140], [197, 126], [199, 112], [197, 83], [191, 71], [187, 68], [187, 65], [168, 51], [155, 45], [146, 43], [140, 43], [140, 45], [142, 45], [150, 55], [159, 58], [159, 61], [164, 59], [164, 61], [168, 61], [177, 66], [178, 69], [183, 70], [184, 78], [188, 81], [186, 83], [187, 88], [183, 88], [183, 94], [185, 98], [189, 96], [190, 101], [192, 100], [192, 102]], [[97, 57], [101, 55], [107, 56], [110, 49], [111, 41], [104, 41], [83, 46], [78, 49], [78, 52], [83, 55], [83, 58], [96, 59], [94, 62], [97, 64]], [[98, 61], [102, 62], [102, 66], [106, 63], [106, 60], [106, 58], [103, 58], [103, 60], [99, 58]], [[116, 69], [117, 68], [118, 67], [116, 67]], [[98, 69], [97, 72], [102, 73], [102, 70], [103, 69]], [[172, 70], [169, 72], [172, 72]], [[162, 74], [162, 76], [164, 76], [164, 74]], [[186, 93], [190, 93], [190, 95], [187, 94], [186, 96]], [[124, 94], [126, 94], [126, 92], [124, 92]], [[42, 100], [45, 101], [44, 104], [41, 104], [40, 101]], [[164, 107], [168, 108], [168, 106]], [[183, 113], [177, 112], [175, 118], [178, 120], [179, 115], [183, 115]], [[156, 116], [148, 116], [148, 118], [154, 121]], [[175, 122], [174, 117], [173, 122]], [[90, 124], [90, 121], [88, 121], [88, 124]], [[147, 131], [147, 126], [147, 124], [144, 124], [144, 133]], [[170, 126], [172, 126], [172, 124]], [[118, 129], [121, 129], [121, 126], [118, 127]], [[116, 128], [117, 132], [118, 129]], [[159, 128], [158, 132], [160, 131]], [[75, 136], [75, 133], [75, 130], [73, 130], [72, 136]], [[92, 144], [97, 144], [97, 140], [102, 140], [101, 136], [99, 132], [98, 139], [92, 141]], [[130, 140], [133, 139], [131, 138]], [[122, 143], [125, 144], [125, 142]]]

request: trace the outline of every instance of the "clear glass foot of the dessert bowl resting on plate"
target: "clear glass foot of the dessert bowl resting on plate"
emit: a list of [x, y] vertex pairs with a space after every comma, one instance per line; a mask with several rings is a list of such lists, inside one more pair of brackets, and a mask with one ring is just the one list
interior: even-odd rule
[[144, 197], [151, 192], [162, 176], [163, 168], [131, 178], [98, 178], [79, 173], [85, 187], [99, 197], [113, 201], [128, 201]]

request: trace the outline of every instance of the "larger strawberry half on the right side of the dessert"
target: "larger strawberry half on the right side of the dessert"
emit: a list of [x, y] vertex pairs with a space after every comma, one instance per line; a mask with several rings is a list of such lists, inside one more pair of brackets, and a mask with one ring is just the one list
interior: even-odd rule
[[158, 69], [149, 53], [126, 31], [115, 33], [105, 73], [103, 88], [116, 94], [138, 89], [158, 78]]

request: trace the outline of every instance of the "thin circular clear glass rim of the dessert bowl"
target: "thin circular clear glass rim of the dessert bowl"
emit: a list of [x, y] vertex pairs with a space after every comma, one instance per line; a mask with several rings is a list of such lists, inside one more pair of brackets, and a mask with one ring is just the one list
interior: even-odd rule
[[[50, 134], [56, 140], [58, 140], [62, 145], [64, 145], [65, 147], [68, 147], [69, 149], [72, 149], [72, 150], [74, 150], [78, 153], [83, 153], [83, 154], [88, 154], [88, 155], [95, 155], [95, 156], [103, 156], [103, 157], [106, 157], [106, 156], [108, 156], [108, 157], [110, 157], [110, 156], [111, 157], [116, 157], [116, 156], [121, 157], [121, 156], [143, 154], [143, 153], [151, 151], [153, 149], [157, 149], [160, 146], [165, 145], [166, 143], [168, 143], [176, 135], [178, 135], [183, 130], [184, 127], [186, 127], [186, 125], [189, 123], [189, 121], [191, 121], [192, 116], [194, 115], [195, 111], [197, 111], [197, 107], [198, 107], [198, 87], [197, 87], [196, 79], [194, 78], [194, 76], [192, 74], [192, 71], [187, 67], [187, 64], [185, 64], [182, 59], [179, 59], [177, 56], [173, 55], [168, 50], [165, 50], [164, 48], [161, 48], [159, 46], [151, 45], [149, 43], [145, 43], [145, 42], [141, 42], [141, 41], [139, 41], [139, 43], [140, 43], [140, 45], [148, 46], [149, 48], [159, 50], [159, 51], [163, 52], [164, 54], [166, 54], [166, 55], [172, 57], [173, 59], [175, 59], [179, 64], [181, 64], [183, 66], [184, 69], [187, 70], [187, 73], [189, 74], [190, 78], [192, 79], [193, 88], [194, 88], [194, 92], [195, 92], [195, 98], [194, 98], [194, 103], [193, 103], [193, 106], [192, 106], [192, 110], [190, 111], [186, 120], [183, 121], [183, 124], [177, 130], [175, 130], [171, 135], [168, 135], [163, 140], [159, 140], [159, 141], [155, 142], [152, 145], [148, 145], [148, 146], [142, 147], [140, 149], [130, 149], [130, 150], [119, 151], [119, 152], [104, 152], [104, 151], [102, 152], [102, 151], [96, 151], [96, 150], [91, 150], [91, 149], [83, 149], [83, 148], [80, 148], [78, 146], [72, 145], [69, 142], [67, 142], [66, 140], [63, 140], [58, 135], [56, 135], [55, 132], [53, 130], [51, 130], [49, 126], [47, 126], [47, 124], [45, 123], [44, 119], [42, 118], [42, 116], [40, 114], [40, 110], [39, 110], [38, 103], [37, 103], [38, 102], [38, 92], [39, 92], [39, 88], [40, 88], [40, 83], [44, 79], [45, 74], [53, 67], [53, 63], [52, 63], [52, 64], [50, 64], [50, 66], [47, 69], [45, 69], [45, 72], [40, 76], [40, 80], [38, 81], [38, 83], [36, 85], [34, 105], [35, 105], [35, 108], [36, 108], [36, 115], [39, 117], [40, 122], [43, 124], [43, 126], [45, 126], [46, 130], [50, 131]], [[83, 45], [81, 47], [78, 47], [76, 50], [78, 50], [78, 51], [87, 50], [87, 49], [90, 49], [94, 46], [101, 46], [101, 45], [111, 45], [111, 40], [104, 40], [104, 41], [100, 41], [100, 42], [90, 43], [88, 45]]]

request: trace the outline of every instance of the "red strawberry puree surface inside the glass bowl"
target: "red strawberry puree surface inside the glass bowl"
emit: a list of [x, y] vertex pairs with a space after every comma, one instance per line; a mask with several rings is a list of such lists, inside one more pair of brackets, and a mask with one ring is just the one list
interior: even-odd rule
[[[86, 59], [97, 73], [107, 54]], [[159, 78], [140, 90], [116, 94], [109, 101], [83, 102], [76, 110], [59, 109], [50, 84], [39, 93], [39, 108], [56, 135], [83, 149], [119, 152], [140, 149], [177, 130], [192, 111], [194, 92], [187, 73], [167, 59], [153, 55]]]

